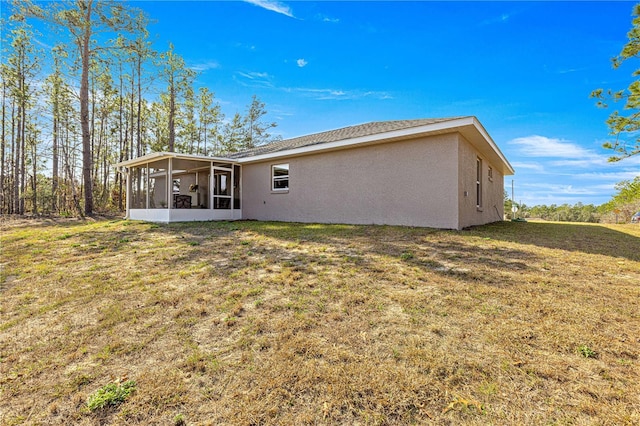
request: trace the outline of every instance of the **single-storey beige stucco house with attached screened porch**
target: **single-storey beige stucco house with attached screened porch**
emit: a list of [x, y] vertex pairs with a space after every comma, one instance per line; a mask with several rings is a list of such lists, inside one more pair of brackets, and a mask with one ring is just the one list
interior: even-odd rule
[[475, 117], [372, 122], [224, 157], [159, 152], [116, 165], [127, 218], [462, 229], [503, 219], [513, 168]]

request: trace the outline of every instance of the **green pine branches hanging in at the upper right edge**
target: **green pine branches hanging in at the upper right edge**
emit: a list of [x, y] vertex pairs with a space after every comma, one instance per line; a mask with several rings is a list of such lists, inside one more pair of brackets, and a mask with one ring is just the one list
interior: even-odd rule
[[[613, 67], [618, 68], [628, 59], [640, 57], [640, 4], [634, 6], [634, 18], [632, 28], [627, 33], [629, 41], [622, 48], [618, 56], [612, 59]], [[640, 76], [640, 68], [636, 69], [634, 77]], [[640, 130], [640, 80], [636, 78], [629, 87], [623, 90], [613, 91], [608, 89], [594, 90], [591, 97], [598, 100], [597, 105], [601, 108], [608, 108], [607, 101], [624, 102], [624, 110], [628, 114], [621, 114], [614, 111], [609, 115], [606, 123], [609, 126], [609, 134], [614, 137], [613, 141], [603, 144], [604, 148], [613, 150], [614, 154], [609, 157], [609, 161], [620, 161], [623, 158], [640, 154], [640, 136], [635, 134]]]

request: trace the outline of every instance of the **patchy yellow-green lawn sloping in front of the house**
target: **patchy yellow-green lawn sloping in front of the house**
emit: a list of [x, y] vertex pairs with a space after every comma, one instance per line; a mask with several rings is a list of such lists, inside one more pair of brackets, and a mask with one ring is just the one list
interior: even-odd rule
[[2, 425], [640, 424], [640, 226], [0, 232]]

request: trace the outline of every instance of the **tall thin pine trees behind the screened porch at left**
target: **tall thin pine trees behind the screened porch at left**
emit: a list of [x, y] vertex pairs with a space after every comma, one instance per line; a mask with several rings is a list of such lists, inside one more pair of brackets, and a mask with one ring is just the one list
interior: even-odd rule
[[172, 44], [155, 50], [140, 9], [110, 0], [3, 7], [0, 214], [122, 210], [114, 163], [152, 151], [215, 156], [275, 139], [257, 96], [228, 119]]

